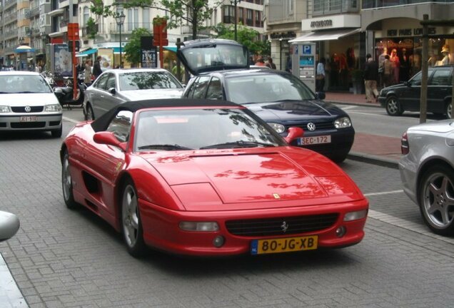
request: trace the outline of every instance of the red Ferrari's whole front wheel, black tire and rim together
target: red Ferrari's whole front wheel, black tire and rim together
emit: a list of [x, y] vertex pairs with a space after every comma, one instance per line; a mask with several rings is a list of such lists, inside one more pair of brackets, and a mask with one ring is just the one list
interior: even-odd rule
[[126, 180], [121, 194], [121, 230], [129, 254], [133, 257], [141, 257], [146, 246], [143, 242], [137, 191], [131, 180]]

